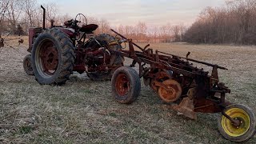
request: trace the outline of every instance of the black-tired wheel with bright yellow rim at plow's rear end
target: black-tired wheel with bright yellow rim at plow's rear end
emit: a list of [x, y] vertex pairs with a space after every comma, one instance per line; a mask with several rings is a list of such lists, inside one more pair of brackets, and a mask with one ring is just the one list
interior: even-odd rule
[[240, 126], [234, 126], [228, 118], [221, 114], [218, 118], [218, 130], [224, 138], [233, 142], [245, 142], [254, 137], [256, 120], [254, 112], [249, 107], [233, 104], [227, 106], [224, 112], [241, 122]]

